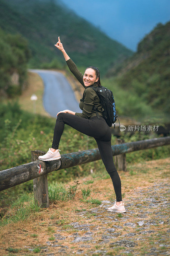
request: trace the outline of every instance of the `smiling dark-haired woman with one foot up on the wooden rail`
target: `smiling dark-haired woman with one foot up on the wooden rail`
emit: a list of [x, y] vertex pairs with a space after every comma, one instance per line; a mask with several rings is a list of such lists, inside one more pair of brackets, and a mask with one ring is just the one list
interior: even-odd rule
[[[110, 212], [126, 212], [124, 203], [122, 203], [121, 180], [113, 161], [111, 130], [102, 116], [102, 106], [99, 97], [91, 87], [88, 88], [90, 85], [95, 87], [101, 85], [99, 69], [90, 66], [86, 68], [84, 75], [82, 75], [76, 64], [65, 52], [63, 44], [60, 42], [60, 37], [58, 37], [58, 42], [55, 46], [63, 53], [70, 71], [86, 90], [84, 92], [84, 101], [80, 101], [79, 104], [80, 109], [83, 110], [82, 113], [76, 113], [68, 109], [57, 113], [52, 146], [44, 156], [39, 156], [39, 159], [51, 161], [61, 158], [58, 147], [63, 134], [64, 124], [68, 124], [77, 131], [93, 137], [97, 142], [103, 164], [112, 179], [116, 194], [115, 204], [107, 210]], [[96, 116], [93, 107], [97, 107], [100, 119]]]

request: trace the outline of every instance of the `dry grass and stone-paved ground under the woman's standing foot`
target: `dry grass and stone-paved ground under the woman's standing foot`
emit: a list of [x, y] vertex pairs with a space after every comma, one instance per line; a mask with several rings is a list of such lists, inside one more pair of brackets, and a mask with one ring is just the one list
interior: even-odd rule
[[107, 211], [115, 194], [105, 172], [79, 179], [99, 205], [83, 202], [78, 188], [74, 200], [2, 228], [0, 255], [169, 255], [169, 167], [166, 158], [131, 165], [131, 174], [119, 172], [127, 211], [121, 214]]

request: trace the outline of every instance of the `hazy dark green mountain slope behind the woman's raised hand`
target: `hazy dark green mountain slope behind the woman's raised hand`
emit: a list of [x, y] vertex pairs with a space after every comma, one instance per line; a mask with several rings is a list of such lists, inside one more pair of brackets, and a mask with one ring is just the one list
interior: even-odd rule
[[54, 44], [58, 36], [70, 58], [81, 67], [90, 65], [105, 74], [115, 63], [121, 63], [132, 51], [110, 39], [98, 28], [78, 17], [60, 2], [46, 0], [0, 0], [0, 27], [8, 33], [21, 33], [32, 50], [30, 67], [58, 58], [62, 53]]

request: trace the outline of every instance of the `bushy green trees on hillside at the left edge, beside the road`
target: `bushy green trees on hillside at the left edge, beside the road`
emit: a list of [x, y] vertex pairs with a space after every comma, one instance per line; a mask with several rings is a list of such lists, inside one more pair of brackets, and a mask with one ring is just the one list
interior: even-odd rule
[[0, 98], [20, 94], [24, 89], [30, 51], [27, 41], [0, 28]]

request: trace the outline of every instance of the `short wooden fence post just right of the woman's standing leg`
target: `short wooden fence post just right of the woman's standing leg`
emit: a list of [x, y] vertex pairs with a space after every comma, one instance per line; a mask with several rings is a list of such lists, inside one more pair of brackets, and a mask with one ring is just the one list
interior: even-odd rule
[[[124, 143], [124, 140], [116, 138], [116, 144], [122, 144], [122, 143]], [[127, 172], [126, 154], [125, 153], [123, 153], [121, 155], [114, 156], [114, 161], [115, 161], [115, 167], [118, 171]]]

